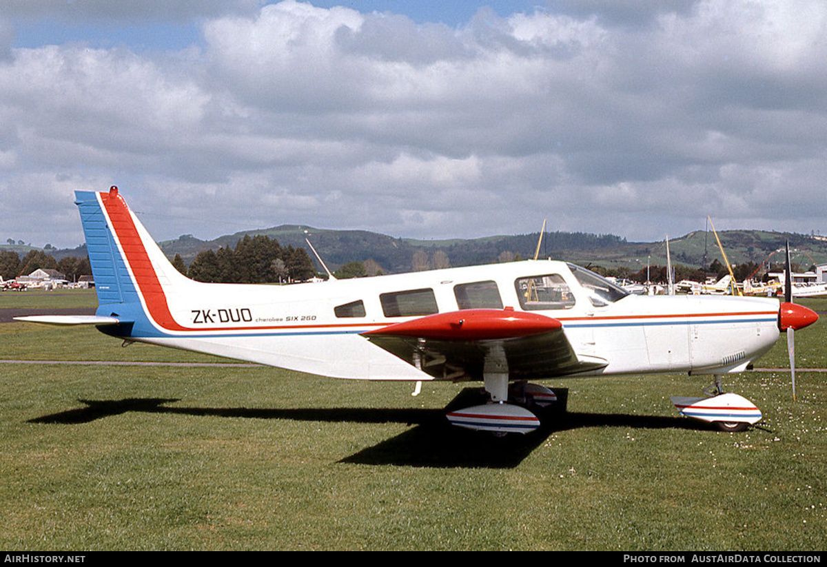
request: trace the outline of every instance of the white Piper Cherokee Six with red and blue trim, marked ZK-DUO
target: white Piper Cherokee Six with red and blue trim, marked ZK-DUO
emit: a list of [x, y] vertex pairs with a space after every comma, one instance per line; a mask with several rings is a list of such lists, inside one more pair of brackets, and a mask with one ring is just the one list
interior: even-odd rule
[[320, 284], [204, 284], [179, 274], [116, 187], [76, 198], [97, 314], [18, 319], [93, 324], [126, 341], [341, 379], [481, 380], [490, 402], [447, 415], [475, 430], [536, 429], [532, 410], [554, 394], [531, 379], [655, 372], [715, 375], [720, 395], [673, 403], [725, 429], [745, 427], [761, 413], [721, 394], [720, 374], [747, 369], [780, 331], [818, 318], [771, 298], [632, 295], [552, 260]]

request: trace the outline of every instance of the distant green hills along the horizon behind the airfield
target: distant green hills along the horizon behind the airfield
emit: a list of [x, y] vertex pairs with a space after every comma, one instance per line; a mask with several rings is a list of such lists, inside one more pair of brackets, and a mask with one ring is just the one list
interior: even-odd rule
[[[160, 242], [164, 253], [171, 258], [179, 254], [186, 264], [203, 250], [218, 250], [222, 246], [235, 247], [244, 236], [265, 235], [275, 238], [280, 245], [302, 247], [309, 250], [305, 238], [309, 238], [327, 266], [335, 270], [352, 261], [374, 260], [385, 274], [413, 269], [414, 253], [423, 250], [432, 261], [437, 250], [447, 255], [452, 266], [486, 264], [515, 258], [533, 258], [539, 233], [513, 236], [486, 236], [472, 239], [416, 240], [394, 238], [370, 231], [336, 231], [302, 225], [282, 225], [267, 229], [241, 231], [220, 236], [212, 241], [202, 241], [192, 235], [183, 235], [171, 241]], [[719, 237], [729, 261], [733, 264], [765, 260], [782, 262], [785, 242], [790, 241], [793, 262], [808, 268], [812, 264], [827, 264], [827, 238], [801, 235], [791, 232], [768, 231], [721, 231]], [[24, 255], [30, 246], [2, 245]], [[707, 266], [721, 255], [713, 233], [695, 231], [669, 243], [674, 264], [692, 268]], [[25, 251], [24, 251], [25, 250]], [[45, 250], [55, 260], [65, 256], [86, 255], [85, 245], [74, 249]], [[23, 252], [23, 254], [20, 254]], [[660, 242], [629, 242], [621, 236], [595, 235], [582, 232], [547, 232], [543, 235], [540, 257], [571, 261], [584, 266], [600, 266], [605, 269], [638, 271], [648, 264], [666, 264], [666, 244]], [[322, 269], [317, 263], [317, 268]]]

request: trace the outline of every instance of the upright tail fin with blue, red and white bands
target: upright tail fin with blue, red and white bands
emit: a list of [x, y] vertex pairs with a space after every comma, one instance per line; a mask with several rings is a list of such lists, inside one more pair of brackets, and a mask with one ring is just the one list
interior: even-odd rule
[[191, 280], [166, 259], [117, 187], [108, 193], [77, 191], [75, 198], [100, 303], [98, 315], [112, 315], [116, 309], [133, 317], [143, 312], [160, 326], [178, 327], [166, 297]]

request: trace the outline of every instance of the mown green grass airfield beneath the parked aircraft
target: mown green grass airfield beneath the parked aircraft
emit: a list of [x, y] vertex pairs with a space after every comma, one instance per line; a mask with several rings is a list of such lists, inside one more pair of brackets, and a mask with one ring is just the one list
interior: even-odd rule
[[[825, 325], [796, 334], [800, 366], [827, 367]], [[758, 366], [786, 366], [782, 342]], [[222, 362], [18, 322], [0, 325], [0, 359]], [[496, 439], [442, 421], [468, 384], [427, 384], [413, 398], [411, 384], [252, 365], [0, 370], [7, 550], [827, 545], [827, 374], [800, 371], [796, 403], [785, 372], [729, 378], [765, 416], [736, 434], [669, 403], [699, 393], [705, 377], [549, 381], [567, 388], [568, 412]]]

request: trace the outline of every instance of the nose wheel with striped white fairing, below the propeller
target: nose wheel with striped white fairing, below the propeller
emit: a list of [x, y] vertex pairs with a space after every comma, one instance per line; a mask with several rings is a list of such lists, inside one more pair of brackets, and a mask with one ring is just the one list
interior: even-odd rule
[[715, 383], [704, 388], [708, 398], [672, 396], [678, 412], [686, 417], [715, 424], [721, 431], [744, 431], [747, 426], [761, 421], [762, 414], [755, 404], [737, 393], [724, 393], [721, 377], [715, 375]]

